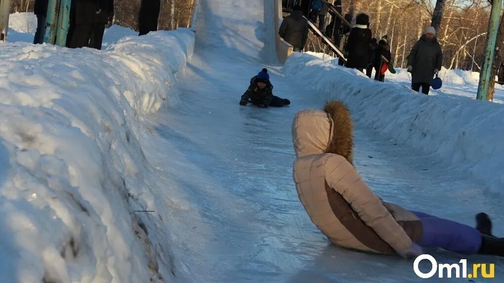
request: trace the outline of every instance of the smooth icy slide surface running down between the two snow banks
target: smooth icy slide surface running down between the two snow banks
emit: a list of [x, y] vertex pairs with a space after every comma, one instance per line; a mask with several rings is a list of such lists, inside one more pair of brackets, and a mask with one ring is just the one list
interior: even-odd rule
[[[148, 155], [184, 191], [191, 215], [198, 215], [178, 231], [176, 243], [188, 247], [182, 259], [187, 274], [195, 282], [467, 281], [422, 279], [412, 261], [338, 248], [310, 222], [292, 181], [291, 122], [296, 111], [321, 108], [324, 99], [305, 90], [310, 82], [282, 74], [273, 5], [273, 0], [201, 0], [195, 56], [178, 79], [180, 100], [157, 117], [161, 138], [155, 148], [166, 155]], [[291, 106], [238, 105], [249, 78], [263, 67], [274, 94], [290, 99]], [[469, 225], [480, 210], [500, 211], [477, 193], [478, 184], [447, 171], [433, 156], [395, 145], [359, 124], [355, 142], [359, 172], [388, 201]], [[473, 205], [464, 205], [467, 198]], [[497, 220], [497, 227], [501, 224]], [[461, 259], [431, 253], [449, 263]], [[496, 278], [502, 267], [497, 262]]]

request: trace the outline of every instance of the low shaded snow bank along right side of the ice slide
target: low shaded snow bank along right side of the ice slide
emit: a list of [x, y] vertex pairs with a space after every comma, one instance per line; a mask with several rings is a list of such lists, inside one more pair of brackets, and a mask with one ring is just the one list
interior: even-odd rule
[[[326, 58], [327, 59], [327, 58]], [[334, 60], [295, 52], [284, 71], [342, 100], [359, 124], [446, 160], [499, 192], [504, 185], [504, 107], [462, 96], [415, 94], [408, 84], [379, 83]]]

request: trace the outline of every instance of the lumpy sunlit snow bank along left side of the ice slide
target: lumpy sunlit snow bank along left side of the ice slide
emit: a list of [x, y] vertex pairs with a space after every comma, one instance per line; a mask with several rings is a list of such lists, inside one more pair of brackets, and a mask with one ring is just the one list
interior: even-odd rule
[[0, 47], [0, 281], [175, 275], [169, 231], [143, 211], [161, 208], [140, 122], [171, 99], [193, 47], [187, 29], [123, 38], [106, 51]]

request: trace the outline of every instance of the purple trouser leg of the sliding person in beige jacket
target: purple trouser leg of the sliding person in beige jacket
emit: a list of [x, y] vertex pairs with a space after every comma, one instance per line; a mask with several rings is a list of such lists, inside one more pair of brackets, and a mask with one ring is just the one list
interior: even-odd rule
[[478, 253], [481, 246], [481, 233], [475, 228], [418, 211], [411, 212], [422, 222], [422, 240], [417, 243], [420, 246], [443, 248], [462, 254]]

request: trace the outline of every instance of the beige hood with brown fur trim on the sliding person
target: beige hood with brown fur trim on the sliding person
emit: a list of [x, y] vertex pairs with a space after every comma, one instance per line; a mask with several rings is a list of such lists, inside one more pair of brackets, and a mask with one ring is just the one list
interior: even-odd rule
[[353, 164], [353, 125], [348, 108], [340, 101], [326, 103], [324, 110], [297, 112], [292, 123], [296, 156], [332, 153]]

